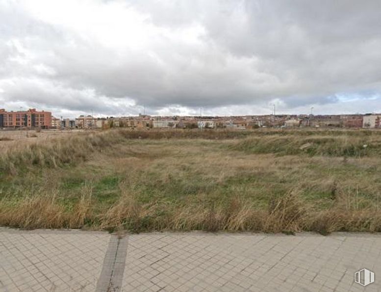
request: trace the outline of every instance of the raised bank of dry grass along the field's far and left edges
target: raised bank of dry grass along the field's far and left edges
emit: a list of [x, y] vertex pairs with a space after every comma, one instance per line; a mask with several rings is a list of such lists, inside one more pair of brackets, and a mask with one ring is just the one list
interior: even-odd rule
[[[54, 139], [20, 144], [0, 154], [0, 174], [16, 175], [18, 171], [30, 166], [59, 167], [86, 160], [94, 151], [127, 139], [232, 139], [239, 140], [231, 146], [232, 150], [246, 153], [275, 153], [282, 155], [327, 155], [363, 157], [381, 154], [381, 135], [359, 132], [352, 134], [326, 135], [316, 132], [315, 135], [305, 131], [301, 135], [295, 132], [279, 131], [199, 131], [199, 130], [166, 130], [166, 131], [130, 131], [117, 130], [98, 133], [78, 133], [65, 139]], [[279, 134], [283, 133], [283, 134]], [[293, 133], [293, 134], [290, 134]], [[373, 133], [373, 132], [370, 132]], [[324, 134], [324, 135], [322, 135]]]

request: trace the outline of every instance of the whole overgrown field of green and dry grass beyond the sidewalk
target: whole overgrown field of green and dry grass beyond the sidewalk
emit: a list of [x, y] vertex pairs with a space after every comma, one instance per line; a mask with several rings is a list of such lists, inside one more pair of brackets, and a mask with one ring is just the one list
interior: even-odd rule
[[378, 131], [116, 130], [0, 155], [0, 225], [19, 228], [379, 232], [380, 190]]

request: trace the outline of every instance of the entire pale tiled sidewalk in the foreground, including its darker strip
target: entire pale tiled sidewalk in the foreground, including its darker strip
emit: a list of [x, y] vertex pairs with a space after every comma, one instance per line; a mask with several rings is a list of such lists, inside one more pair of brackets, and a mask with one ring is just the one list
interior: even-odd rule
[[0, 228], [0, 291], [381, 291], [381, 235]]

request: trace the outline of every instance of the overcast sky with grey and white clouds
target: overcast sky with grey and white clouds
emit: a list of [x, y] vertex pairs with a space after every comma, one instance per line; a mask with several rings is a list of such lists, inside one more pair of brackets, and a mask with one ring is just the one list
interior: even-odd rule
[[380, 0], [0, 0], [0, 108], [381, 112]]

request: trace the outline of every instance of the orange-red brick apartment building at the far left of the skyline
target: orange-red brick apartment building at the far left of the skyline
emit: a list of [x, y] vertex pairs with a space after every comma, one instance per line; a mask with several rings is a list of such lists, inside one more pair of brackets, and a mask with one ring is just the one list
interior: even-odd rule
[[37, 111], [29, 108], [27, 111], [6, 111], [0, 109], [0, 128], [51, 128], [51, 112]]

